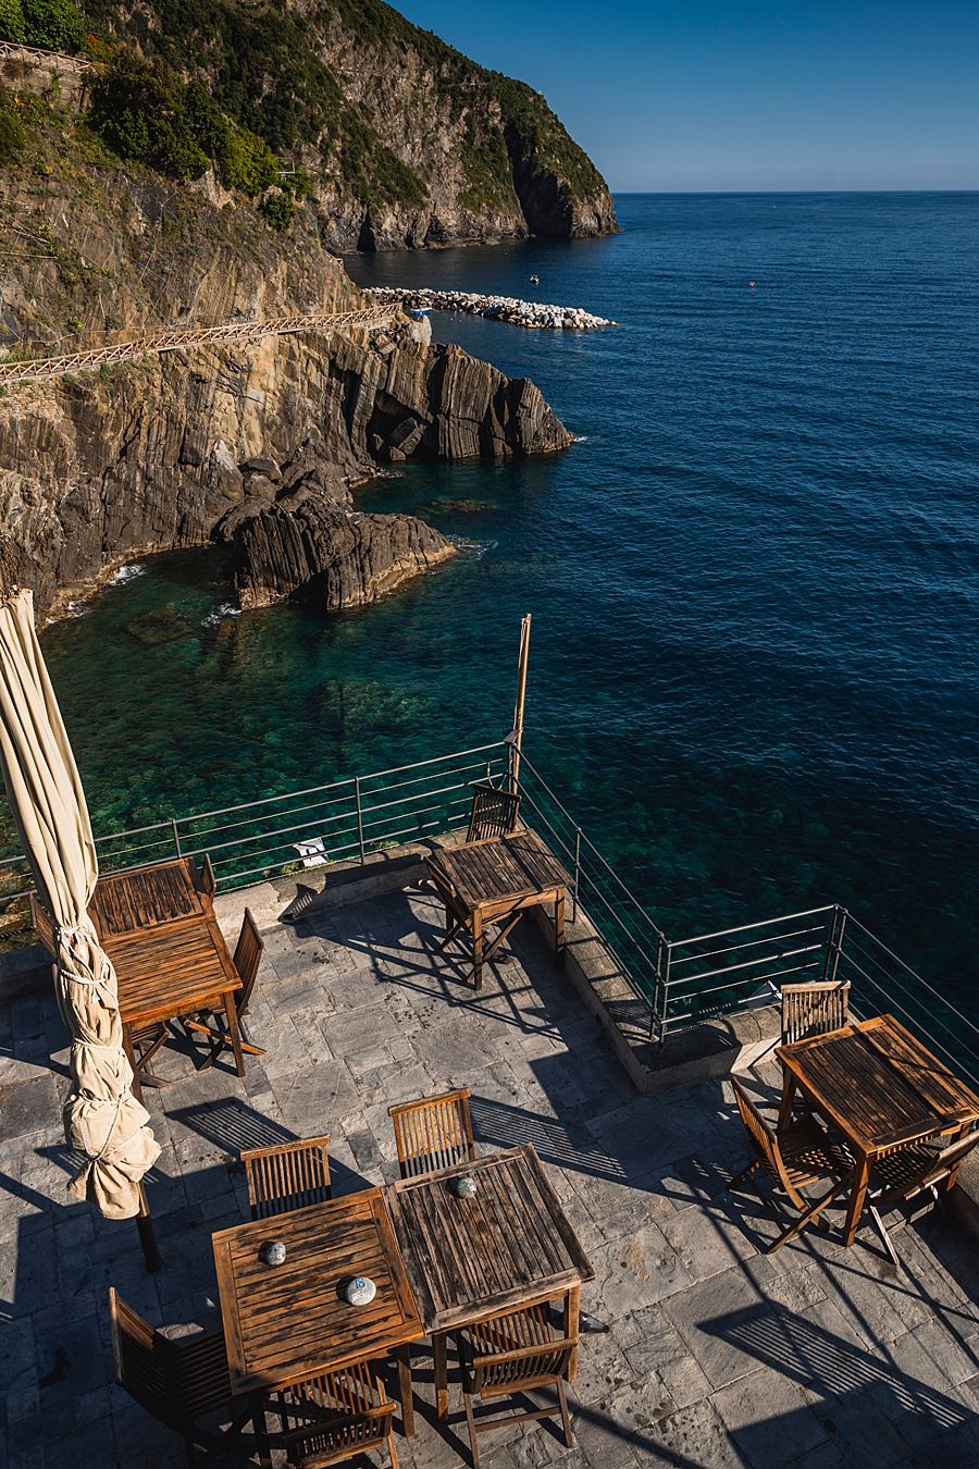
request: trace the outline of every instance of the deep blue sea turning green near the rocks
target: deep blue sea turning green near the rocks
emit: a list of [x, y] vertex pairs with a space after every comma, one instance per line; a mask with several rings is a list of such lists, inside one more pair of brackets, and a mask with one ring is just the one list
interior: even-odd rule
[[[979, 972], [979, 194], [618, 210], [606, 239], [348, 260], [363, 285], [614, 317], [433, 319], [533, 378], [578, 442], [363, 492], [465, 542], [380, 605], [229, 624], [201, 552], [51, 627], [95, 824], [501, 737], [531, 611], [528, 754], [671, 936], [838, 899], [960, 990]], [[128, 624], [163, 605], [186, 635], [147, 646]]]

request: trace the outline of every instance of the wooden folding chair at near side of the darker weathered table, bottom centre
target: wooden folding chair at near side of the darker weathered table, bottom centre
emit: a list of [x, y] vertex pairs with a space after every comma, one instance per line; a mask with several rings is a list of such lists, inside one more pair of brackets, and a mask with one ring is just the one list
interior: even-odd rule
[[[568, 1448], [574, 1447], [564, 1382], [578, 1338], [577, 1334], [559, 1337], [550, 1321], [550, 1306], [543, 1302], [490, 1316], [458, 1334], [473, 1469], [480, 1469], [478, 1435], [503, 1428], [506, 1423], [534, 1422], [561, 1415], [564, 1441]], [[499, 1398], [515, 1397], [542, 1387], [556, 1387], [558, 1401], [552, 1407], [508, 1413], [505, 1418], [476, 1416], [474, 1398], [486, 1404], [490, 1413], [499, 1413]]]

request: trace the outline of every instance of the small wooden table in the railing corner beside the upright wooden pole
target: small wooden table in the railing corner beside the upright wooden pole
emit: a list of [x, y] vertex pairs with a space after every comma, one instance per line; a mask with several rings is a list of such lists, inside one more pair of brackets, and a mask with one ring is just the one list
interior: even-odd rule
[[[467, 980], [477, 990], [483, 984], [483, 964], [493, 958], [527, 908], [537, 903], [555, 905], [555, 952], [564, 953], [564, 898], [571, 878], [536, 831], [445, 846], [427, 856], [426, 865], [445, 900], [448, 933], [442, 948], [458, 928], [473, 934], [473, 970]], [[486, 949], [483, 930], [489, 923], [502, 927]]]

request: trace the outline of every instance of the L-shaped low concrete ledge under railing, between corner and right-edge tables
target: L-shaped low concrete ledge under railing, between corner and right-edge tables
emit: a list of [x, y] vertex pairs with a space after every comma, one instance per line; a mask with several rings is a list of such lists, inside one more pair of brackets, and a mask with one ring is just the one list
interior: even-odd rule
[[[547, 909], [531, 912], [553, 945], [553, 918]], [[778, 1006], [763, 1005], [691, 1025], [662, 1044], [650, 1042], [649, 1002], [636, 993], [581, 908], [575, 923], [565, 923], [565, 974], [643, 1096], [746, 1071], [781, 1036]]]

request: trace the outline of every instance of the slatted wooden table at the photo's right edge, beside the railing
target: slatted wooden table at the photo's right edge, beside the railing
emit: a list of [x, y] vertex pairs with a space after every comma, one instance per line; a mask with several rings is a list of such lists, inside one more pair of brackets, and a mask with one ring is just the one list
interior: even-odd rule
[[[856, 1158], [842, 1243], [853, 1244], [878, 1153], [939, 1133], [964, 1133], [979, 1119], [979, 1096], [892, 1015], [812, 1040], [779, 1046], [785, 1084], [779, 1127], [801, 1091], [847, 1140]], [[956, 1181], [951, 1174], [947, 1187]]]

